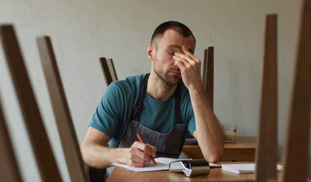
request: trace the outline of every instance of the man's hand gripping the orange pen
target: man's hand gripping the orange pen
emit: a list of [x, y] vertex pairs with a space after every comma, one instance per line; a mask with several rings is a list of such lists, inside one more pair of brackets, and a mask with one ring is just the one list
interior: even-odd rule
[[156, 147], [135, 141], [126, 154], [127, 164], [132, 167], [144, 167], [146, 162], [151, 161], [151, 155], [156, 157]]

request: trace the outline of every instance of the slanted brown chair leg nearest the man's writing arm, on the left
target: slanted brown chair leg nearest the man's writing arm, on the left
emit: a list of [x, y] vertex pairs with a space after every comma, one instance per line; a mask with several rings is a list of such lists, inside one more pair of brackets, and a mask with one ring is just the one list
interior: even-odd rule
[[50, 38], [37, 38], [37, 46], [71, 181], [88, 181]]

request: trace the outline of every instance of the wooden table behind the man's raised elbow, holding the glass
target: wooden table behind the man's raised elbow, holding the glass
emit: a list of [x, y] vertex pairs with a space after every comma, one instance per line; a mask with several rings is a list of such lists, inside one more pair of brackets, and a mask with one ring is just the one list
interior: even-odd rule
[[[225, 142], [219, 161], [255, 161], [256, 136], [238, 136], [236, 142]], [[183, 151], [192, 159], [204, 159], [199, 145], [184, 145]]]

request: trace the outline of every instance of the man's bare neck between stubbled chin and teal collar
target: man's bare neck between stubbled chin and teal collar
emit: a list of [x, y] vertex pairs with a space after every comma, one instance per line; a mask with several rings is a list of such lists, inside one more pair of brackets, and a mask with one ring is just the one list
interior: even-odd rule
[[167, 85], [155, 72], [151, 71], [148, 83], [147, 93], [156, 100], [166, 100], [171, 97], [177, 85]]

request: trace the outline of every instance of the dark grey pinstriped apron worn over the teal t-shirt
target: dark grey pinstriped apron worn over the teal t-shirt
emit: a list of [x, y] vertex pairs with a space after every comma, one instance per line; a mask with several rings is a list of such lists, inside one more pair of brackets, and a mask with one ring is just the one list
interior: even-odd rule
[[[147, 82], [150, 74], [146, 74], [141, 92], [139, 94], [139, 101], [132, 109], [125, 125], [125, 131], [121, 136], [121, 141], [118, 147], [129, 148], [135, 141], [139, 141], [137, 133], [143, 138], [145, 143], [149, 143], [157, 148], [156, 157], [170, 157], [178, 158], [183, 147], [184, 126], [183, 118], [180, 109], [181, 95], [179, 92], [180, 85], [177, 85], [175, 91], [175, 124], [171, 131], [168, 133], [160, 133], [141, 124], [139, 120], [140, 112], [143, 108], [143, 100], [147, 90]], [[108, 178], [113, 167], [106, 170], [105, 179]]]

